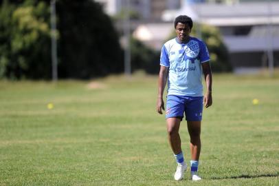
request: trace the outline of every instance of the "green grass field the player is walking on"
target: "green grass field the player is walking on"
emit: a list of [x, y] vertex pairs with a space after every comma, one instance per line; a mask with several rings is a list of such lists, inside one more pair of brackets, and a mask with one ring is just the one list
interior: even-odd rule
[[[157, 76], [140, 74], [0, 81], [0, 185], [279, 185], [278, 75], [214, 75], [198, 183], [173, 179], [156, 98]], [[181, 140], [189, 164], [186, 121]]]

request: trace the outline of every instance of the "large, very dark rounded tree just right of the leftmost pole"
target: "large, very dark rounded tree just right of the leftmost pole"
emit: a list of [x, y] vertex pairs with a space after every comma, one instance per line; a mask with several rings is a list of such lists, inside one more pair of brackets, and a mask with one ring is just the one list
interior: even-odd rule
[[60, 77], [90, 79], [123, 72], [118, 32], [99, 3], [61, 0], [57, 3], [57, 15]]

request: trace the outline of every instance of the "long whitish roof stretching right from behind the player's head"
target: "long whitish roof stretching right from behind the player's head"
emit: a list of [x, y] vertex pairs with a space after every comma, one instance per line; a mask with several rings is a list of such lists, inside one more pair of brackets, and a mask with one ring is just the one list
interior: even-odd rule
[[194, 21], [216, 26], [279, 24], [279, 2], [247, 2], [228, 4], [197, 3], [180, 10], [166, 10], [162, 19], [173, 21], [179, 14], [187, 14]]

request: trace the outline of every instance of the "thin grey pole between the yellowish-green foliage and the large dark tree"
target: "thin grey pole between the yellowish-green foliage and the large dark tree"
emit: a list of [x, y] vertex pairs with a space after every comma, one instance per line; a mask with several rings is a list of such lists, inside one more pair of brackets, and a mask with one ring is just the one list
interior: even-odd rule
[[56, 43], [56, 0], [50, 1], [52, 37], [52, 81], [57, 81], [57, 43]]

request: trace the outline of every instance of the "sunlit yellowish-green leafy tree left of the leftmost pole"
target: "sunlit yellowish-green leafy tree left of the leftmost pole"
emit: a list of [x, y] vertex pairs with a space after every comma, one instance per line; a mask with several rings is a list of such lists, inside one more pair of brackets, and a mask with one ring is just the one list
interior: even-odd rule
[[0, 8], [0, 78], [48, 79], [50, 69], [49, 7], [43, 1]]

